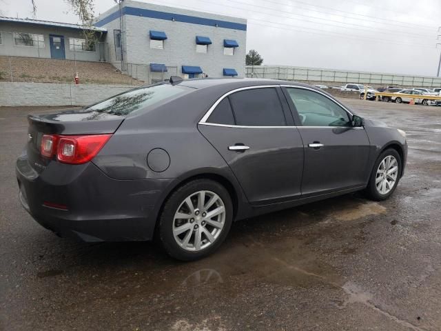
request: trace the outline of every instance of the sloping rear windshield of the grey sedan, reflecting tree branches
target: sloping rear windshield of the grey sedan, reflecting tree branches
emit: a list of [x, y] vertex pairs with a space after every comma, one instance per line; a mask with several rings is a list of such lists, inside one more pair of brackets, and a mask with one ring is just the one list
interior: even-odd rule
[[136, 110], [152, 106], [159, 101], [176, 97], [178, 94], [183, 94], [188, 90], [191, 89], [170, 84], [136, 88], [135, 90], [130, 90], [96, 103], [85, 108], [85, 110], [116, 116], [127, 116], [131, 112], [136, 112]]

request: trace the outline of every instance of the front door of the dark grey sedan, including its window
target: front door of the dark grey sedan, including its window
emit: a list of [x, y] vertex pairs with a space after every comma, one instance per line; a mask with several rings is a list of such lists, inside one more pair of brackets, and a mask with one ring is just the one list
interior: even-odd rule
[[305, 151], [302, 197], [366, 185], [370, 144], [365, 128], [351, 126], [352, 114], [327, 94], [284, 88]]

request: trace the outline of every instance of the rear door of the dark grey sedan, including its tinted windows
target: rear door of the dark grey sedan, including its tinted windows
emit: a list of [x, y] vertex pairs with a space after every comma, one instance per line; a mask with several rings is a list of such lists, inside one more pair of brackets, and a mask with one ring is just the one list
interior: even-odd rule
[[300, 197], [303, 144], [280, 87], [225, 94], [198, 129], [228, 163], [250, 203]]

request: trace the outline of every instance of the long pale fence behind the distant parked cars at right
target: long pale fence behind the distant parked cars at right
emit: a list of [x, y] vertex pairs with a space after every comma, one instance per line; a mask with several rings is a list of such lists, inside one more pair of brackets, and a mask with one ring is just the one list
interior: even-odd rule
[[247, 66], [245, 72], [247, 77], [334, 83], [336, 85], [342, 85], [343, 83], [365, 83], [373, 86], [441, 87], [441, 78], [406, 74], [382, 74], [376, 72], [281, 66]]

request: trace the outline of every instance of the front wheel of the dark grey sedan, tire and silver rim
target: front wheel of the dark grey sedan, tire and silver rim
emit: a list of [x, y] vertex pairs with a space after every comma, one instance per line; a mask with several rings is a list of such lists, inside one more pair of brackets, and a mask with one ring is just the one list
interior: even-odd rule
[[389, 198], [395, 191], [401, 174], [401, 157], [392, 148], [384, 150], [373, 165], [367, 194], [375, 201]]

